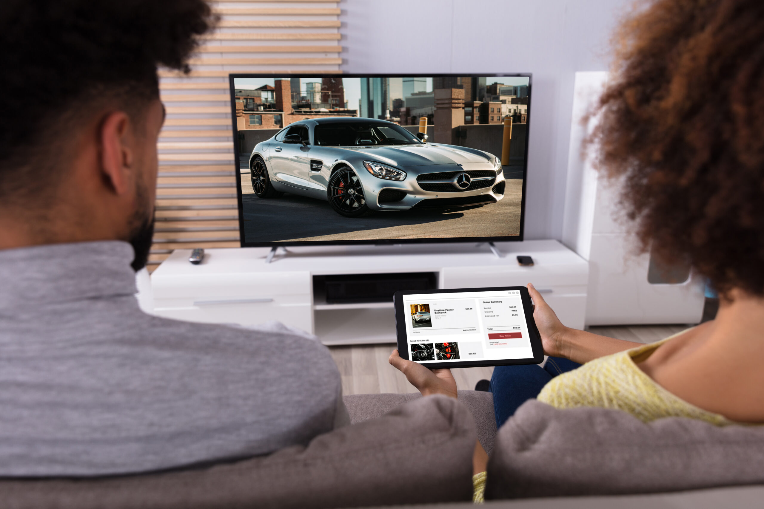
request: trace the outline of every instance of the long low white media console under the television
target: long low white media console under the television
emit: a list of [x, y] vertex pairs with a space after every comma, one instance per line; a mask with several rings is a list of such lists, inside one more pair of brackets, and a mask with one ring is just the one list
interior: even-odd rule
[[[588, 263], [556, 240], [487, 244], [300, 246], [207, 250], [192, 265], [176, 250], [151, 275], [154, 313], [178, 320], [244, 326], [276, 320], [316, 334], [327, 345], [394, 343], [393, 303], [329, 304], [322, 276], [432, 272], [438, 288], [486, 288], [533, 283], [562, 323], [583, 328]], [[520, 266], [516, 256], [533, 257]]]

